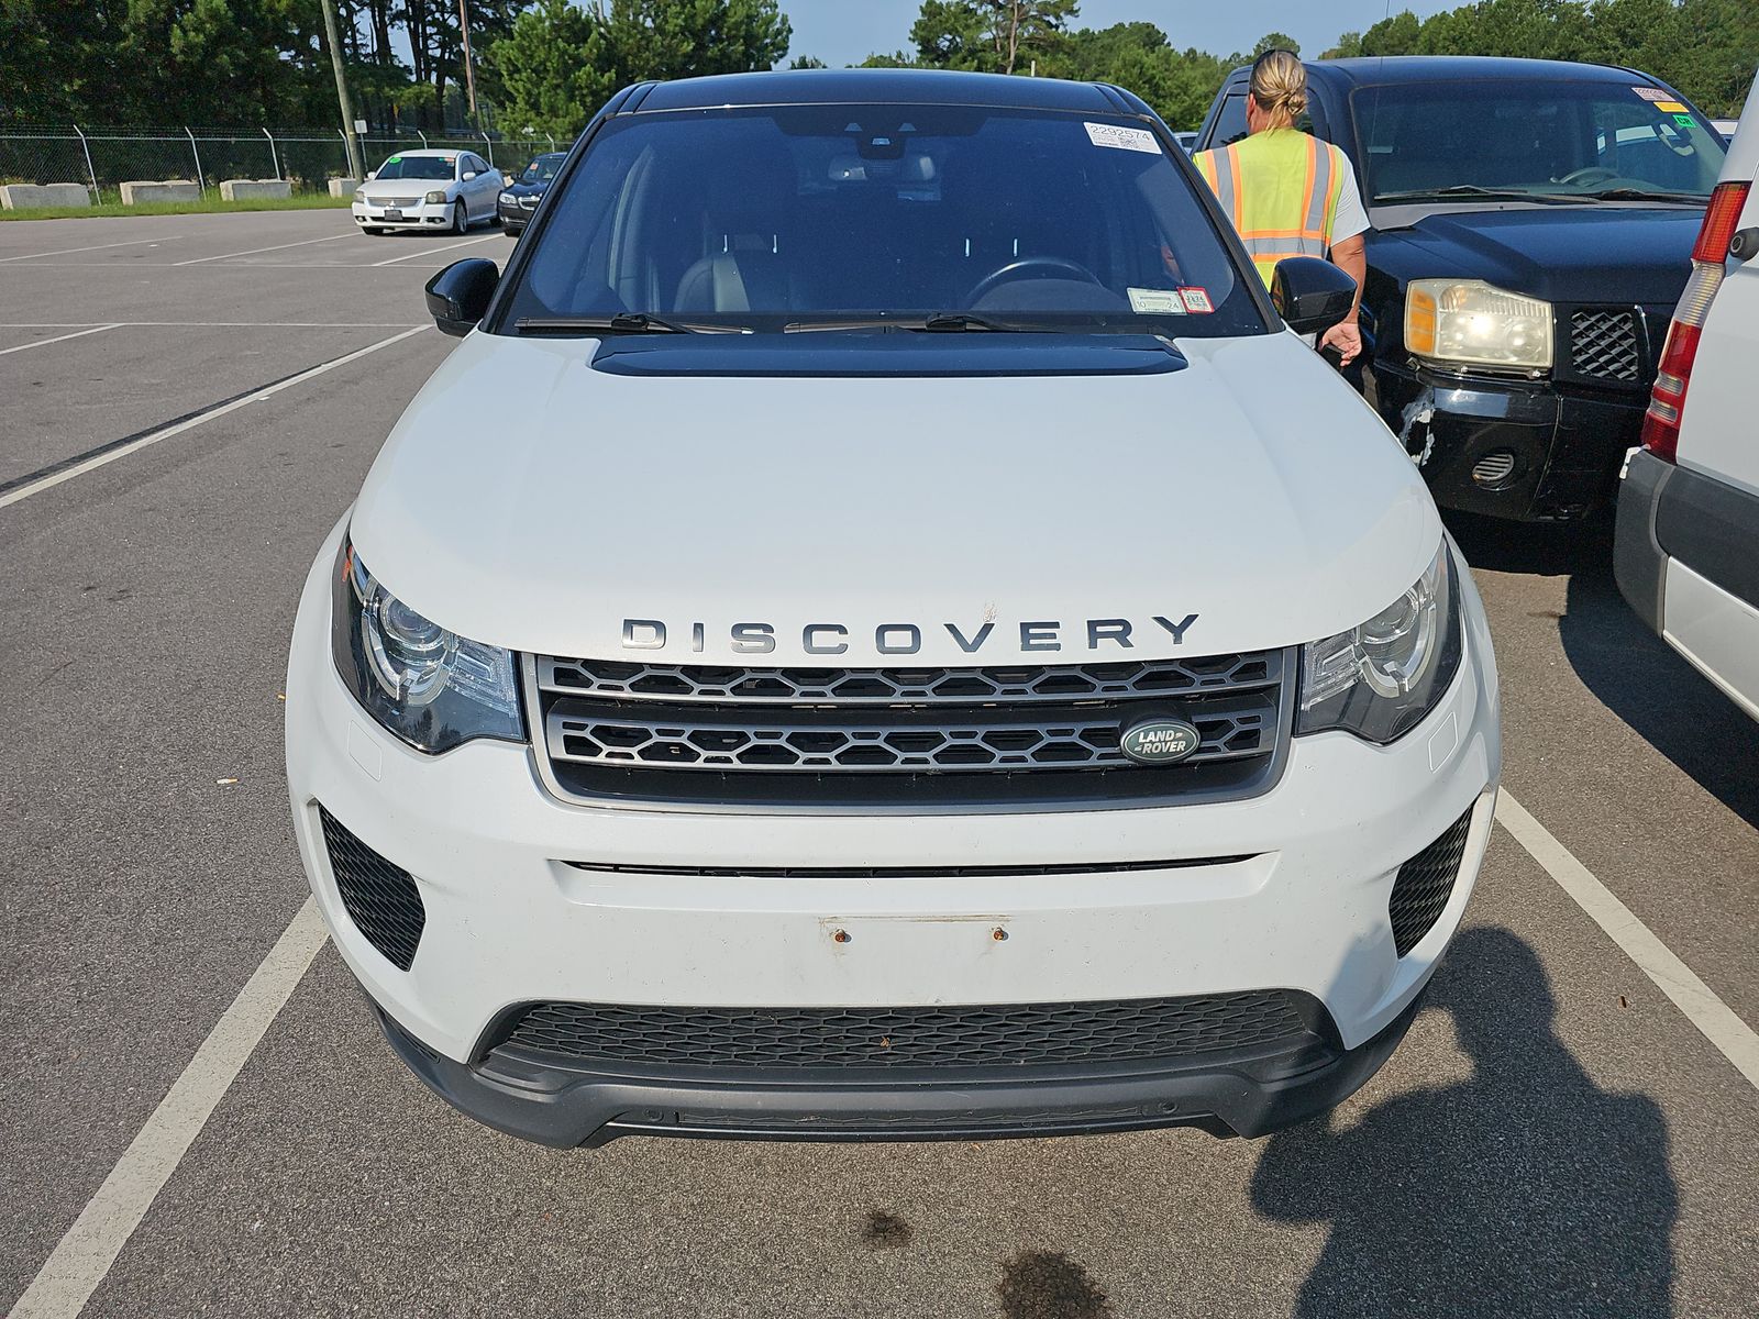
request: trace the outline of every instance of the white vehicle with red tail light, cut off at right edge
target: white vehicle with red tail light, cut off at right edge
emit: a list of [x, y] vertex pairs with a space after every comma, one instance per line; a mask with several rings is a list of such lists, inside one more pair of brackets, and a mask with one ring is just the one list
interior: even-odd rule
[[1625, 466], [1613, 565], [1643, 621], [1759, 719], [1759, 88], [1741, 123]]

